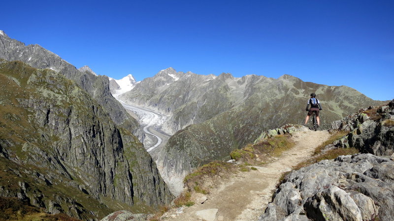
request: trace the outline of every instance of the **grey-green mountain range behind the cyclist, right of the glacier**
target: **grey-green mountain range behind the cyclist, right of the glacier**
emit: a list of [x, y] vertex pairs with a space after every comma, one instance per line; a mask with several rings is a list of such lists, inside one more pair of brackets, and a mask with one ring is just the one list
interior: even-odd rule
[[178, 183], [198, 166], [229, 159], [265, 130], [303, 124], [311, 93], [322, 103], [321, 129], [365, 106], [381, 105], [347, 86], [328, 86], [283, 75], [278, 79], [247, 75], [234, 78], [160, 71], [136, 84], [119, 100], [167, 115], [162, 129], [172, 135], [157, 164], [162, 175]]

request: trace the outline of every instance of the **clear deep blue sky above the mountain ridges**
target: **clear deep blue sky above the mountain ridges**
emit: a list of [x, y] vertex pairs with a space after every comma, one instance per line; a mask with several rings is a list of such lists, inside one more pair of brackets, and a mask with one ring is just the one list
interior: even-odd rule
[[393, 0], [7, 0], [0, 29], [115, 79], [289, 74], [394, 98]]

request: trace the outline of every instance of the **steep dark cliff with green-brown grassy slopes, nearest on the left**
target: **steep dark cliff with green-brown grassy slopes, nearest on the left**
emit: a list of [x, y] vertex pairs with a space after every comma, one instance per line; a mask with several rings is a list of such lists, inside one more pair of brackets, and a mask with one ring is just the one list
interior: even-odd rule
[[84, 220], [171, 201], [139, 140], [79, 85], [19, 61], [0, 79], [1, 196]]

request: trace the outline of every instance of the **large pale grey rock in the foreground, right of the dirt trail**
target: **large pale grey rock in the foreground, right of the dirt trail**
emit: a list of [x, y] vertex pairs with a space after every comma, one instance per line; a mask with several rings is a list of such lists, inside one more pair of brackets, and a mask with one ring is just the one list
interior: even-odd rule
[[293, 171], [259, 220], [391, 221], [393, 166], [389, 158], [357, 154]]

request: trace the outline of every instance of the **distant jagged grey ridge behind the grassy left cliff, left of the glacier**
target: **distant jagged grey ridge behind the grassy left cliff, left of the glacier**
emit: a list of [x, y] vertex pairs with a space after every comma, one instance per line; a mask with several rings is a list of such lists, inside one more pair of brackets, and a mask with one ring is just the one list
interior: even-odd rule
[[59, 72], [66, 76], [67, 79], [75, 81], [92, 95], [108, 111], [111, 119], [117, 125], [128, 128], [140, 140], [143, 139], [143, 131], [139, 128], [138, 122], [127, 114], [122, 105], [112, 97], [106, 76], [96, 76], [93, 71], [84, 68], [78, 70], [60, 56], [41, 46], [25, 46], [24, 43], [11, 39], [5, 33], [0, 35], [0, 59], [8, 61], [19, 60], [34, 68], [48, 68]]

